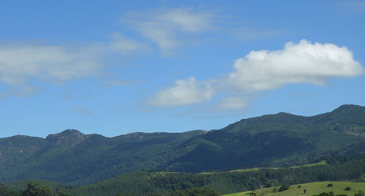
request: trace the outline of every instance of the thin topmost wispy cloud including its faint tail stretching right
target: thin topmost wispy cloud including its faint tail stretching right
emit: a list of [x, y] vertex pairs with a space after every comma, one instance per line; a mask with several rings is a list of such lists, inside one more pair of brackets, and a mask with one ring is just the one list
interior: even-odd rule
[[282, 34], [278, 29], [258, 30], [245, 26], [243, 21], [228, 22], [227, 19], [229, 16], [220, 15], [213, 9], [180, 7], [131, 11], [122, 17], [120, 24], [157, 44], [163, 55], [175, 54], [176, 48], [195, 45], [209, 38], [231, 36], [245, 41]]

